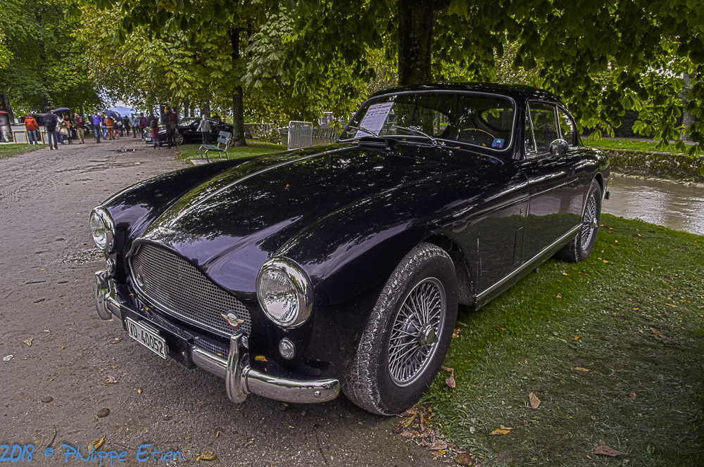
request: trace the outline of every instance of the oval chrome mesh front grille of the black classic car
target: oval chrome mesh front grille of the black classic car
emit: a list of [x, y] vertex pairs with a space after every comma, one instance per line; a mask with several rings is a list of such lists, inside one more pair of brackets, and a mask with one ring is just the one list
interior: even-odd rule
[[174, 252], [142, 245], [130, 258], [130, 270], [137, 293], [161, 311], [225, 336], [235, 331], [221, 314], [234, 312], [244, 319], [241, 331], [251, 333], [252, 319], [244, 304]]

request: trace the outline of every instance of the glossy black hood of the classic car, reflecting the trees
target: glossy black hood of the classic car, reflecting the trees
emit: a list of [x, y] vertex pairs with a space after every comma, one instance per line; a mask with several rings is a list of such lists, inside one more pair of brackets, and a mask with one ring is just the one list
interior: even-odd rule
[[[476, 173], [500, 165], [456, 148], [410, 144], [394, 151], [337, 145], [260, 156], [189, 191], [134, 241], [132, 252], [145, 242], [165, 245], [225, 288], [251, 293], [263, 262], [320, 219], [384, 199], [379, 193], [449, 188], [468, 168]], [[425, 183], [432, 179], [442, 183]]]

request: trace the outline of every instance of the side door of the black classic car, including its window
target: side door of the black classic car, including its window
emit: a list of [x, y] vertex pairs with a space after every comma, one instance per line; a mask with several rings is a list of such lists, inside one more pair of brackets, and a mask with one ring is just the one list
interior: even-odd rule
[[[565, 139], [565, 153], [551, 145]], [[530, 192], [525, 258], [530, 260], [568, 236], [582, 215], [583, 163], [576, 145], [574, 122], [555, 103], [530, 102], [525, 118], [522, 170]]]

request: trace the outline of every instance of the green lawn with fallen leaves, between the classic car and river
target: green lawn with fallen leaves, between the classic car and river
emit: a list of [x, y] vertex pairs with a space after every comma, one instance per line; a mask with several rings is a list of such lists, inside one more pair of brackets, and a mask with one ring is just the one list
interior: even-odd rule
[[441, 371], [423, 402], [482, 466], [704, 466], [704, 236], [601, 222], [586, 261], [460, 307], [457, 386]]

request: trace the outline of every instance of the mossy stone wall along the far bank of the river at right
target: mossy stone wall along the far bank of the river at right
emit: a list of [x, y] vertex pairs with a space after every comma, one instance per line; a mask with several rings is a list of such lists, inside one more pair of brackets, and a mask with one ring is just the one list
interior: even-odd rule
[[696, 159], [684, 154], [633, 151], [630, 149], [601, 149], [611, 160], [612, 172], [642, 175], [672, 180], [704, 181], [701, 170], [704, 156]]

